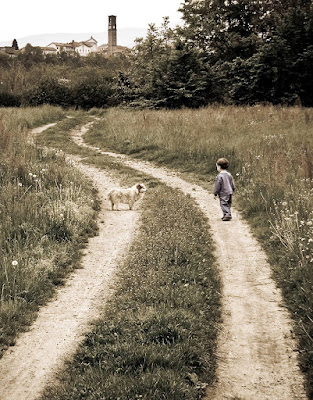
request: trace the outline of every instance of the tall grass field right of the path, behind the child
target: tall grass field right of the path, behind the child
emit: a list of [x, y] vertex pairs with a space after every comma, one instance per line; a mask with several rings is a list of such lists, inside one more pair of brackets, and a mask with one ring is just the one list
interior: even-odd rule
[[267, 251], [295, 321], [313, 398], [313, 110], [270, 106], [108, 110], [89, 143], [192, 173], [209, 187], [230, 160], [235, 204]]

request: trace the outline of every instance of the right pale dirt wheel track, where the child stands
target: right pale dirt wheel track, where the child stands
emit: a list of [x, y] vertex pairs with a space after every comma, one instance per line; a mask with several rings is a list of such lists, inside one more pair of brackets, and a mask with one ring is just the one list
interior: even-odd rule
[[82, 138], [87, 130], [86, 125], [74, 134], [77, 144], [182, 190], [196, 200], [209, 219], [223, 281], [223, 327], [217, 382], [208, 389], [206, 399], [306, 399], [292, 322], [271, 279], [265, 253], [239, 213], [234, 211], [231, 222], [221, 221], [218, 201], [202, 187], [151, 163], [88, 146]]

